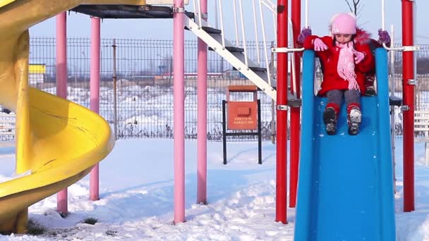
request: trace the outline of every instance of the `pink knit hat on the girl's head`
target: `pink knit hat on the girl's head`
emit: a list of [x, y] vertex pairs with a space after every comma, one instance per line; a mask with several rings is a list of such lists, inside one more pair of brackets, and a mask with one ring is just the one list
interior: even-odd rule
[[330, 31], [332, 35], [356, 34], [356, 16], [353, 13], [338, 13], [331, 18]]

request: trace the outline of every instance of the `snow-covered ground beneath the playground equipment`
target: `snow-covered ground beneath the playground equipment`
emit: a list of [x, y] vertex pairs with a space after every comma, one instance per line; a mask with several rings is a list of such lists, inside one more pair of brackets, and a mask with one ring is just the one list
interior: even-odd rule
[[[68, 188], [70, 214], [56, 212], [56, 196], [30, 206], [44, 235], [0, 235], [0, 240], [293, 240], [289, 224], [274, 222], [275, 146], [264, 142], [258, 165], [256, 142], [208, 142], [208, 204], [196, 202], [196, 142], [186, 141], [186, 223], [173, 224], [173, 141], [119, 140], [100, 163], [100, 200], [91, 202], [89, 178]], [[0, 148], [0, 182], [13, 175], [14, 149]], [[396, 159], [402, 159], [397, 140]], [[398, 240], [429, 240], [429, 168], [424, 144], [416, 144], [416, 211], [402, 212], [402, 163], [397, 170]], [[83, 223], [96, 218], [97, 223]]]

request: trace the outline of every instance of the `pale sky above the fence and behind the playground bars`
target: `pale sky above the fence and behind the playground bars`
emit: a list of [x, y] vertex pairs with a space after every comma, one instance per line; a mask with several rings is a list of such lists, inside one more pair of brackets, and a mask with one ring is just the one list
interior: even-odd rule
[[[188, 11], [193, 11], [193, 4], [186, 6]], [[214, 0], [208, 0], [209, 4], [209, 22], [211, 25], [214, 21]], [[253, 0], [244, 0], [243, 13], [246, 29], [246, 39], [255, 39], [255, 31], [253, 25]], [[353, 1], [353, 0], [350, 0]], [[224, 24], [226, 36], [229, 39], [235, 39], [234, 34], [234, 11], [232, 1], [223, 1], [224, 9]], [[238, 6], [238, 1], [237, 6]], [[276, 1], [273, 1], [276, 3]], [[290, 4], [291, 1], [289, 1]], [[304, 1], [302, 1], [304, 4]], [[349, 11], [344, 0], [325, 0], [325, 1], [309, 1], [309, 23], [316, 35], [326, 35], [327, 25], [334, 13]], [[388, 30], [390, 25], [395, 27], [395, 39], [401, 39], [401, 1], [385, 1], [385, 23]], [[429, 44], [429, 25], [428, 25], [428, 0], [417, 0], [416, 16], [419, 44]], [[302, 25], [304, 25], [305, 7], [302, 6]], [[272, 22], [272, 13], [268, 8], [264, 7], [265, 26], [267, 26], [267, 39], [274, 39], [274, 27]], [[259, 12], [257, 12], [259, 16]], [[258, 17], [259, 19], [259, 17]], [[424, 23], [426, 22], [426, 23]], [[220, 24], [220, 22], [219, 22]], [[142, 20], [103, 20], [102, 21], [102, 37], [104, 38], [119, 38], [119, 39], [172, 39], [173, 21], [142, 19]], [[361, 12], [358, 14], [358, 25], [369, 30], [376, 37], [377, 29], [382, 27], [381, 17], [381, 1], [377, 0], [361, 0]], [[240, 27], [240, 26], [238, 26]], [[220, 27], [219, 27], [220, 28]], [[30, 29], [32, 36], [55, 36], [55, 18], [45, 20], [44, 22], [35, 25]], [[241, 36], [241, 35], [240, 35]], [[262, 39], [262, 33], [258, 30], [259, 39]], [[80, 13], [70, 13], [68, 16], [68, 37], [90, 37], [90, 17]], [[190, 33], [186, 34], [187, 39], [195, 39]], [[242, 37], [239, 37], [241, 39]]]

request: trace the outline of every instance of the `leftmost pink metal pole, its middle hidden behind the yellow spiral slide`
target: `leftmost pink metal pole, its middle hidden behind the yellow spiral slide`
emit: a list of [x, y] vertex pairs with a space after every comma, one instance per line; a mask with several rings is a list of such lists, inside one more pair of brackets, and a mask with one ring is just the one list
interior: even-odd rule
[[[67, 15], [56, 16], [56, 95], [67, 98]], [[68, 214], [67, 188], [56, 194], [56, 210]]]

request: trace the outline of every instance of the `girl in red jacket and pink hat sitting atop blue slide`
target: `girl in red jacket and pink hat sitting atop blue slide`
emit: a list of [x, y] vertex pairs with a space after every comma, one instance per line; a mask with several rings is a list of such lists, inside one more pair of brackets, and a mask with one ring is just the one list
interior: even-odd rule
[[314, 49], [323, 70], [322, 89], [318, 96], [327, 96], [323, 122], [328, 135], [337, 132], [342, 97], [347, 106], [349, 135], [357, 135], [362, 120], [360, 96], [365, 93], [365, 73], [374, 68], [374, 58], [365, 42], [356, 41], [356, 16], [339, 13], [330, 23], [332, 36], [308, 36], [305, 49]]

